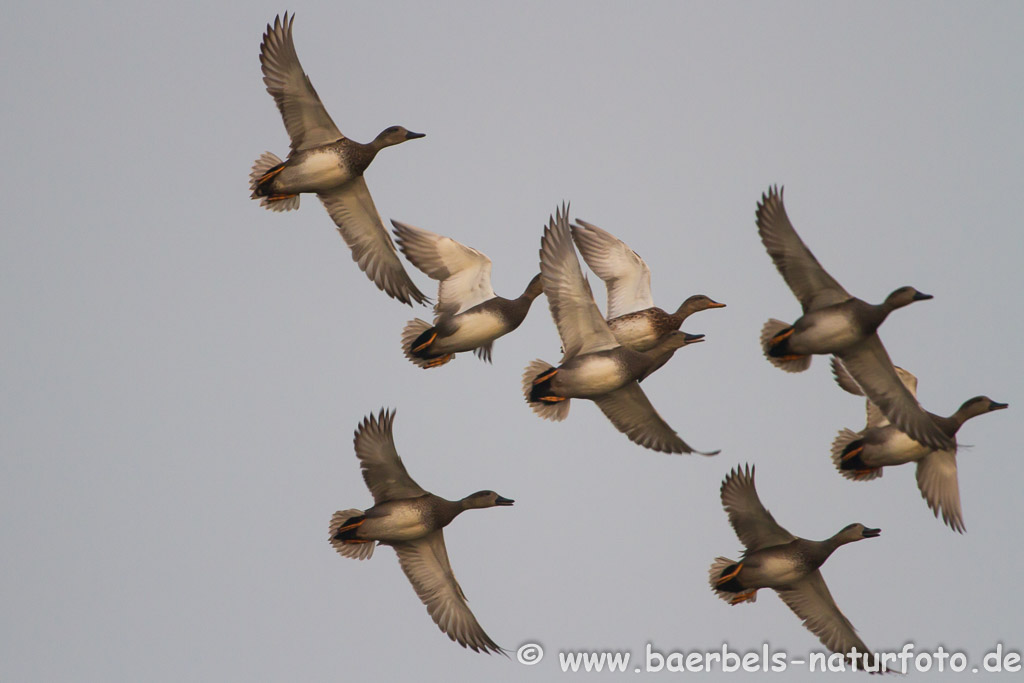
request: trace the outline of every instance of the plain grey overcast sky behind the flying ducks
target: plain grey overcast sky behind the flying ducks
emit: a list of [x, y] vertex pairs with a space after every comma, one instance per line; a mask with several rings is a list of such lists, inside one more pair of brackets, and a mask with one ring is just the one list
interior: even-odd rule
[[[428, 309], [380, 293], [315, 199], [249, 199], [253, 160], [288, 151], [258, 61], [286, 9], [342, 132], [427, 135], [368, 171], [385, 219], [483, 251], [517, 296], [569, 201], [646, 259], [663, 307], [728, 304], [644, 383], [720, 456], [636, 446], [588, 401], [535, 416], [522, 369], [560, 357], [543, 298], [493, 366], [402, 357]], [[770, 591], [730, 607], [708, 588], [740, 550], [719, 485], [744, 462], [798, 536], [882, 527], [823, 568], [868, 646], [1021, 650], [1022, 33], [1014, 2], [6, 7], [0, 678], [543, 681], [558, 650], [648, 642], [803, 656], [821, 646]], [[882, 328], [928, 410], [1010, 402], [961, 431], [965, 536], [912, 467], [835, 471], [864, 411], [826, 359], [762, 357], [765, 319], [800, 312], [754, 224], [772, 183], [850, 292], [935, 295]], [[516, 500], [444, 533], [480, 624], [543, 644], [539, 665], [450, 642], [390, 549], [328, 544], [334, 511], [372, 503], [351, 437], [382, 405], [425, 488]]]

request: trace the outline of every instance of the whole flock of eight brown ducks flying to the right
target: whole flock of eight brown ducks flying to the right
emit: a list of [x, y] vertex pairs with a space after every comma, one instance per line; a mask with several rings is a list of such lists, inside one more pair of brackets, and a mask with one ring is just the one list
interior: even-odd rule
[[[352, 252], [352, 259], [385, 294], [412, 305], [429, 299], [414, 284], [398, 256], [436, 280], [431, 323], [415, 318], [401, 331], [401, 349], [425, 370], [472, 351], [489, 362], [495, 340], [525, 319], [544, 294], [562, 343], [558, 365], [537, 359], [522, 375], [526, 403], [541, 418], [562, 421], [571, 399], [594, 401], [618, 431], [646, 449], [670, 454], [717, 455], [687, 444], [658, 414], [643, 382], [676, 351], [703, 341], [680, 330], [695, 312], [726, 304], [697, 294], [675, 312], [654, 306], [650, 270], [624, 242], [600, 227], [570, 221], [562, 205], [541, 237], [540, 272], [514, 299], [490, 286], [490, 259], [481, 252], [413, 225], [391, 221], [384, 228], [362, 177], [384, 147], [423, 137], [401, 126], [384, 129], [372, 142], [345, 137], [331, 120], [299, 62], [292, 38], [294, 15], [267, 25], [260, 45], [263, 82], [291, 138], [288, 158], [266, 152], [252, 167], [252, 198], [271, 211], [299, 208], [304, 193], [315, 194]], [[775, 318], [762, 329], [765, 357], [777, 368], [807, 370], [814, 355], [830, 355], [836, 382], [866, 397], [866, 424], [842, 429], [831, 445], [837, 470], [856, 481], [882, 476], [886, 467], [916, 464], [921, 495], [936, 516], [964, 532], [956, 475], [956, 432], [967, 420], [1007, 408], [987, 396], [964, 402], [949, 417], [922, 408], [916, 378], [893, 365], [879, 327], [894, 310], [931, 299], [900, 287], [880, 304], [849, 294], [818, 263], [785, 213], [782, 190], [771, 187], [758, 203], [758, 234], [802, 315], [792, 325]], [[397, 248], [395, 247], [397, 243]], [[602, 315], [578, 252], [607, 288]], [[377, 545], [390, 546], [402, 570], [438, 628], [452, 640], [480, 652], [504, 653], [466, 604], [444, 546], [443, 527], [465, 510], [511, 506], [514, 501], [481, 490], [449, 501], [422, 488], [406, 470], [393, 435], [395, 413], [381, 410], [355, 430], [355, 455], [374, 499], [367, 510], [334, 514], [329, 541], [339, 554], [369, 559]], [[828, 592], [819, 567], [842, 545], [878, 537], [879, 528], [849, 524], [830, 539], [808, 541], [780, 526], [755, 487], [755, 468], [735, 467], [722, 482], [721, 500], [743, 546], [738, 561], [717, 558], [709, 570], [711, 589], [726, 602], [754, 602], [771, 588], [805, 627], [834, 652], [866, 656], [868, 651]], [[852, 651], [856, 650], [855, 654]]]

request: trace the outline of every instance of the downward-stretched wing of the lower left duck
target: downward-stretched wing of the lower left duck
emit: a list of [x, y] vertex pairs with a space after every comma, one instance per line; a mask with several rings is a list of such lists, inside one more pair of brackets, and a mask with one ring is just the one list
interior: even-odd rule
[[391, 545], [430, 617], [449, 638], [476, 652], [502, 652], [466, 604], [466, 595], [449, 562], [441, 529], [416, 541]]

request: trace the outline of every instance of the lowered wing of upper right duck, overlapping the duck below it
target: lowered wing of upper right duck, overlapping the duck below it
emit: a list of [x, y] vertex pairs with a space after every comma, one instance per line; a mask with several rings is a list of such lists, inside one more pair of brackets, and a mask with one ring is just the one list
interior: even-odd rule
[[[925, 412], [914, 394], [900, 379], [877, 334], [836, 355], [867, 399], [897, 429], [929, 447], [955, 452], [956, 442], [935, 424], [935, 420]], [[916, 386], [916, 381], [912, 384]], [[870, 423], [882, 418], [872, 416], [868, 411], [867, 419]]]

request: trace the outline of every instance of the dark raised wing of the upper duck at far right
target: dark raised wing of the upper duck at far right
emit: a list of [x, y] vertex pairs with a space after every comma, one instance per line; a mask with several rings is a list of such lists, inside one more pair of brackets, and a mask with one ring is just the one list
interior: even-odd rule
[[805, 313], [853, 298], [821, 267], [797, 234], [785, 214], [781, 190], [771, 187], [761, 196], [757, 222], [761, 242]]

